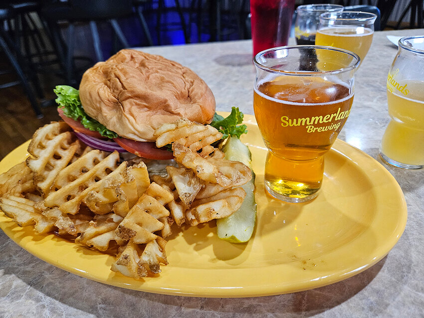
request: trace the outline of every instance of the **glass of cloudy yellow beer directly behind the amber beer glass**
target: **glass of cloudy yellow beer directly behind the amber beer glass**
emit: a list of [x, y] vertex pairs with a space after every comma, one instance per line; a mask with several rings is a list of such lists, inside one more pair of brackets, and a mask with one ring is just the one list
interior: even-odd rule
[[316, 45], [342, 48], [364, 60], [373, 41], [377, 15], [368, 12], [328, 12], [319, 16]]

